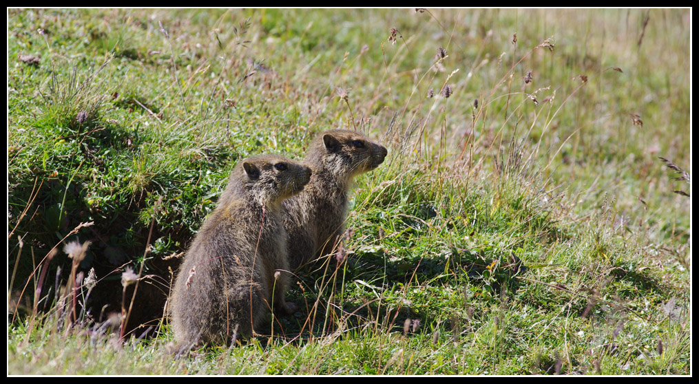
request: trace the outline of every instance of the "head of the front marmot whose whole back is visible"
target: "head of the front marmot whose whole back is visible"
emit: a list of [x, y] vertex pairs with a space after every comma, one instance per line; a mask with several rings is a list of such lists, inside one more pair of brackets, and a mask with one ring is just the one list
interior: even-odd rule
[[233, 169], [229, 187], [238, 184], [241, 192], [251, 195], [260, 204], [278, 205], [303, 191], [310, 175], [310, 168], [284, 156], [252, 156], [244, 158]]

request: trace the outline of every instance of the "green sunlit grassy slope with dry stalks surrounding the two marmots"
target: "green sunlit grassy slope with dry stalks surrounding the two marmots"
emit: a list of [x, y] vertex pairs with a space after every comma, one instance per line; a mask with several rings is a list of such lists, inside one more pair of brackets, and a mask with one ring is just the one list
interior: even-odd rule
[[[8, 374], [691, 374], [690, 25], [8, 10]], [[355, 127], [389, 158], [302, 310], [173, 359], [173, 256], [236, 161]]]

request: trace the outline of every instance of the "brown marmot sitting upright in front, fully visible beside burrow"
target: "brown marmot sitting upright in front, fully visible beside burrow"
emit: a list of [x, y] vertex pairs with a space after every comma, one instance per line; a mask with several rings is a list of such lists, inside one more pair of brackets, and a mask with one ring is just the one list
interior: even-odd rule
[[[293, 313], [282, 200], [301, 192], [311, 170], [264, 155], [240, 161], [219, 204], [189, 247], [171, 299], [178, 353], [229, 344], [268, 323], [272, 308]], [[237, 333], [236, 333], [237, 332]]]

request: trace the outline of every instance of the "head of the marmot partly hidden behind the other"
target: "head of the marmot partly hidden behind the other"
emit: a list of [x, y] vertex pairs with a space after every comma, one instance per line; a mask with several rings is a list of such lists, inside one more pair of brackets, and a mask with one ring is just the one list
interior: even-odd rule
[[322, 165], [341, 179], [352, 179], [378, 167], [388, 151], [361, 133], [334, 130], [318, 135], [308, 153], [308, 163]]

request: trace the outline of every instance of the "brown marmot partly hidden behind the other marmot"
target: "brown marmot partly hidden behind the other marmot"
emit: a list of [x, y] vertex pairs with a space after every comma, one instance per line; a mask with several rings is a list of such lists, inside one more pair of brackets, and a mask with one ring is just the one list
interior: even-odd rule
[[292, 270], [333, 251], [343, 234], [347, 194], [356, 175], [383, 163], [388, 151], [354, 131], [326, 131], [303, 160], [312, 170], [303, 192], [284, 200], [284, 227]]

